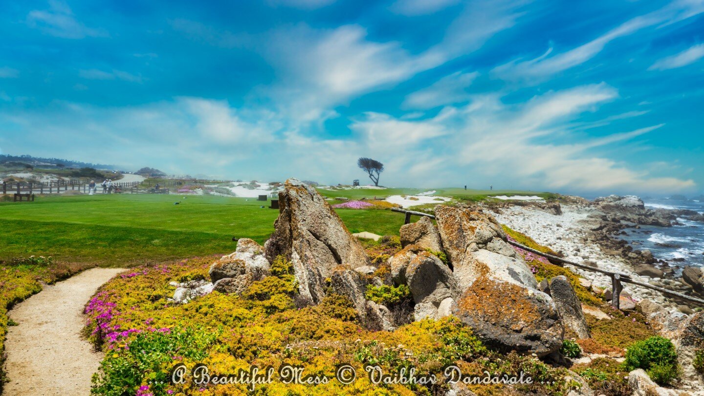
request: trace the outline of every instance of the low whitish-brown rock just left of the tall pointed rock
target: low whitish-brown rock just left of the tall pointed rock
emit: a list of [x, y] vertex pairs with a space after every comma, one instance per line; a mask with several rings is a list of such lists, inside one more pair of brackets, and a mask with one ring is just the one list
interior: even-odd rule
[[253, 282], [268, 276], [269, 271], [264, 249], [257, 242], [242, 238], [234, 253], [215, 261], [208, 273], [216, 291], [241, 294]]

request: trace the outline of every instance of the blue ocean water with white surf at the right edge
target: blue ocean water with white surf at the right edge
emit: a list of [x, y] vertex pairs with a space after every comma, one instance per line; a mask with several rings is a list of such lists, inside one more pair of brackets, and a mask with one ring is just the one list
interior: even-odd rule
[[[691, 209], [699, 213], [704, 212], [704, 202], [672, 199], [643, 199], [643, 202], [650, 209]], [[629, 241], [634, 249], [649, 249], [655, 258], [670, 261], [674, 268], [704, 266], [704, 223], [685, 218], [679, 218], [678, 221], [681, 225], [672, 227], [641, 225], [639, 230], [628, 228], [625, 230], [628, 235], [622, 237]]]

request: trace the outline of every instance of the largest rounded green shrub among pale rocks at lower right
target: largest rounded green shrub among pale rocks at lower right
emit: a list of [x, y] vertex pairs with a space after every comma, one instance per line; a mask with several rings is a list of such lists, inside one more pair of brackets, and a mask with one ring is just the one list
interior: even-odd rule
[[677, 352], [672, 341], [654, 335], [628, 348], [624, 366], [643, 369], [656, 383], [667, 385], [677, 378]]

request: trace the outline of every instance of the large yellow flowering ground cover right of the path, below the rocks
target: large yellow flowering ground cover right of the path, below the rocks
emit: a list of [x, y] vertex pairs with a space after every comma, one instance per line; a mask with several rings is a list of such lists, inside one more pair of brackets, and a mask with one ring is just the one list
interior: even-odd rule
[[[378, 247], [377, 253], [383, 250]], [[565, 369], [553, 369], [531, 357], [491, 352], [456, 318], [374, 332], [358, 324], [346, 297], [329, 294], [318, 306], [296, 307], [290, 264], [282, 259], [272, 265], [273, 276], [254, 283], [241, 297], [213, 292], [188, 304], [169, 301], [174, 292], [170, 282], [207, 278], [214, 260], [205, 257], [134, 268], [101, 287], [86, 307], [85, 333], [106, 353], [94, 376], [94, 394], [247, 392], [247, 385], [196, 384], [192, 378], [184, 384], [170, 383], [174, 366], [185, 364], [190, 371], [199, 363], [208, 366], [210, 375], [249, 371], [252, 364], [277, 370], [291, 364], [303, 367], [304, 376], [332, 378], [318, 385], [284, 384], [275, 374], [272, 383], [256, 385], [258, 395], [434, 395], [447, 389], [441, 370], [449, 364], [475, 375], [484, 370], [525, 371], [536, 380], [522, 385], [529, 391], [565, 394], [574, 385], [564, 379]], [[341, 364], [356, 369], [355, 382], [344, 385], [334, 379]], [[373, 384], [364, 369], [367, 364], [379, 364], [386, 373], [413, 366], [419, 373], [435, 373], [439, 383]], [[502, 392], [501, 385], [470, 388], [479, 395]]]

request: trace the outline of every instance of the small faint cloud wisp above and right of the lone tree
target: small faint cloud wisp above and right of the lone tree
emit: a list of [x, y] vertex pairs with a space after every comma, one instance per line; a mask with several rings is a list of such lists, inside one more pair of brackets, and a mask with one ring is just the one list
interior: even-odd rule
[[478, 75], [477, 72], [446, 75], [433, 85], [409, 94], [401, 106], [405, 109], [429, 109], [465, 101], [470, 97], [466, 89]]

